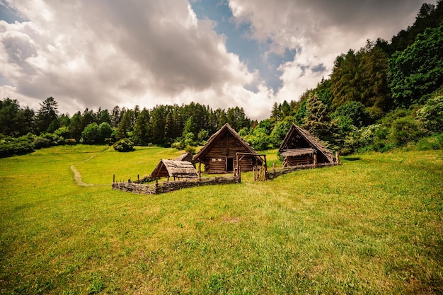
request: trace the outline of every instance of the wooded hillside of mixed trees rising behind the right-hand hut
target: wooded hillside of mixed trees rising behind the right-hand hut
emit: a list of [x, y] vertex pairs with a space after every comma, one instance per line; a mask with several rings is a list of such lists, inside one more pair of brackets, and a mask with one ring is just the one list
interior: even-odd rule
[[295, 123], [342, 154], [414, 142], [442, 148], [442, 19], [442, 0], [422, 4], [391, 42], [368, 40], [340, 54], [328, 79], [297, 101], [274, 103], [268, 119], [241, 135], [255, 149], [277, 148]]

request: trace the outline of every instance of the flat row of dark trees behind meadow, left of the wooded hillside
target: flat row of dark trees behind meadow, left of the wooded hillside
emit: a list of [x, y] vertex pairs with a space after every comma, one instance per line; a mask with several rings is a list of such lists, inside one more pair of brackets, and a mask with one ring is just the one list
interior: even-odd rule
[[[207, 140], [224, 124], [235, 129], [253, 125], [243, 108], [217, 108], [189, 103], [187, 105], [156, 105], [140, 110], [120, 108], [97, 111], [86, 108], [74, 115], [59, 114], [58, 103], [50, 97], [40, 103], [35, 112], [28, 106], [22, 108], [18, 100], [0, 101], [0, 139], [3, 150], [13, 146], [6, 154], [23, 152], [55, 144], [113, 144], [120, 139], [130, 139], [135, 145], [171, 146], [178, 149], [196, 146]], [[25, 144], [28, 142], [28, 145]], [[5, 153], [4, 153], [5, 154]]]

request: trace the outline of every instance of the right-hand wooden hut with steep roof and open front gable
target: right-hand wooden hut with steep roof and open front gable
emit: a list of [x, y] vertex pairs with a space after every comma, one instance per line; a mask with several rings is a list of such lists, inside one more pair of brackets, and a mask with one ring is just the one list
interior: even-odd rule
[[321, 163], [335, 163], [335, 158], [326, 146], [309, 132], [292, 125], [284, 137], [279, 153], [284, 156], [283, 167]]

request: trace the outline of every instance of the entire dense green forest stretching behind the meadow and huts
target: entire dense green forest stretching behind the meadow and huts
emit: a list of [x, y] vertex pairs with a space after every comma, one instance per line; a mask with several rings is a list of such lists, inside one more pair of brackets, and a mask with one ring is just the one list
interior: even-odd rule
[[[391, 41], [368, 40], [335, 59], [333, 71], [300, 98], [272, 105], [257, 122], [243, 108], [157, 105], [140, 110], [84, 110], [59, 114], [55, 98], [39, 110], [0, 101], [0, 156], [57, 144], [173, 146], [193, 151], [225, 123], [256, 150], [280, 146], [295, 123], [342, 154], [387, 151], [410, 143], [443, 147], [443, 6], [423, 4], [415, 23]], [[271, 105], [270, 105], [271, 107]]]

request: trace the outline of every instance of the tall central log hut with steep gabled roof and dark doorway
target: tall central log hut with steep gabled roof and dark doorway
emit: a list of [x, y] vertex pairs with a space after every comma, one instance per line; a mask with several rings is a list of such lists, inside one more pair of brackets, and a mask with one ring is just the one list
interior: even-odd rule
[[[195, 162], [205, 165], [206, 173], [232, 173], [237, 168], [236, 154], [244, 153], [240, 162], [241, 171], [252, 171], [253, 166], [262, 163], [262, 159], [252, 146], [226, 123], [209, 138], [205, 146], [192, 158]], [[257, 156], [255, 156], [257, 155]]]

